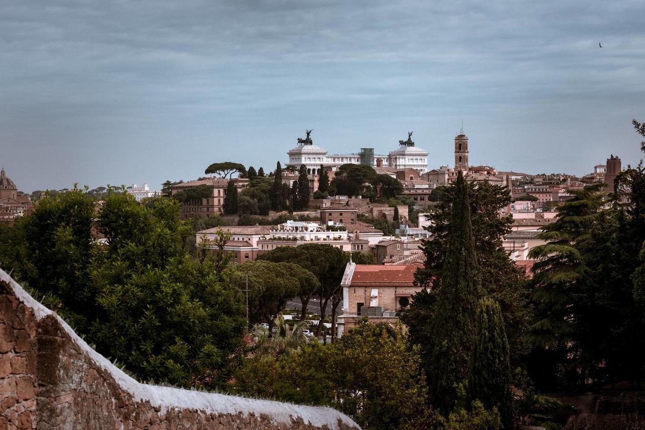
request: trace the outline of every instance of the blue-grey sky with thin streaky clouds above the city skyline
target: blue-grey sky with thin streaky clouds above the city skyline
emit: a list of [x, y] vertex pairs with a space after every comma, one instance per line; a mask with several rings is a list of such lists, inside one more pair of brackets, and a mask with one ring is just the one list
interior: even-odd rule
[[[414, 131], [430, 168], [637, 164], [645, 2], [3, 0], [0, 165], [21, 191], [191, 180]], [[599, 47], [602, 43], [602, 48]]]

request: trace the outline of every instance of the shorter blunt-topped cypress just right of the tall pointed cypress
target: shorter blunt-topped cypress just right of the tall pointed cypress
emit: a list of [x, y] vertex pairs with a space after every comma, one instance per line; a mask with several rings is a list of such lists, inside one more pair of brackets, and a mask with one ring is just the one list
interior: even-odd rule
[[475, 345], [468, 367], [471, 400], [481, 400], [488, 409], [496, 406], [504, 428], [512, 429], [508, 339], [502, 310], [490, 297], [481, 299], [477, 307]]

